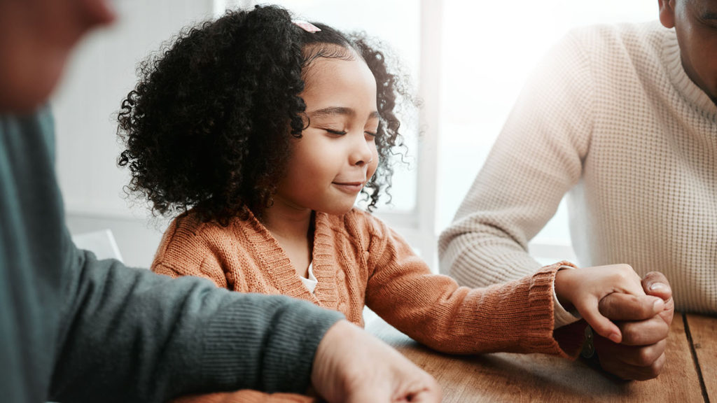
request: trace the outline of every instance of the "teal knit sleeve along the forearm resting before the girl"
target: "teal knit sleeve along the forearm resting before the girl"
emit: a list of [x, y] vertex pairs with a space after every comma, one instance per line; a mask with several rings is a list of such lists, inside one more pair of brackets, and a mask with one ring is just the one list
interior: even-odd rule
[[68, 278], [51, 399], [165, 402], [181, 394], [304, 392], [341, 318], [282, 296], [232, 293], [95, 260], [63, 238]]

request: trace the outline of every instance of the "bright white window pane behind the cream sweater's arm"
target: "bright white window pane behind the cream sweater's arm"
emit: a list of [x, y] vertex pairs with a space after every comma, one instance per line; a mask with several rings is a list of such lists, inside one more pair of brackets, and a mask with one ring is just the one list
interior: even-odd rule
[[[528, 74], [549, 48], [573, 27], [656, 20], [657, 1], [447, 0], [442, 12], [438, 231], [452, 221]], [[567, 222], [561, 203], [533, 242], [569, 245]]]

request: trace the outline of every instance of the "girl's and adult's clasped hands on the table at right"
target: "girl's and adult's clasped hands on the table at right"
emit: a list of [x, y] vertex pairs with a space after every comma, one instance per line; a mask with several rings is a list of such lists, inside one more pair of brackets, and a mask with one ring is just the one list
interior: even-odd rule
[[621, 379], [655, 378], [675, 312], [672, 290], [660, 272], [640, 277], [629, 265], [561, 270], [556, 294], [593, 328], [600, 366]]

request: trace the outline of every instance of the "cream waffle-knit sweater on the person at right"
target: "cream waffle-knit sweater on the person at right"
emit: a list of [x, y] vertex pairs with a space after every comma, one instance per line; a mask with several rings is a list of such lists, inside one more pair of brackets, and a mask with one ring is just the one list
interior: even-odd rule
[[584, 266], [667, 275], [680, 310], [717, 313], [717, 106], [658, 23], [571, 32], [538, 67], [441, 234], [463, 285], [521, 278], [527, 243], [569, 194]]

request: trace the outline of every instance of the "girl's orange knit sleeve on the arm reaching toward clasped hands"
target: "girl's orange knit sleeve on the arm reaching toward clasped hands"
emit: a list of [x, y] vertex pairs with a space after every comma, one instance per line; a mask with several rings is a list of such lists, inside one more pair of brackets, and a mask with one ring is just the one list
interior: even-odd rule
[[578, 353], [578, 331], [562, 333], [560, 343], [553, 337], [553, 282], [561, 263], [510, 283], [459, 287], [432, 274], [399, 235], [377, 225], [366, 305], [392, 326], [447, 353]]

